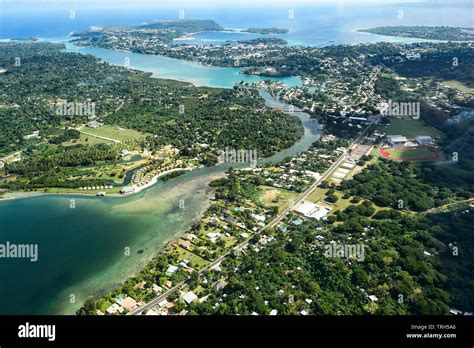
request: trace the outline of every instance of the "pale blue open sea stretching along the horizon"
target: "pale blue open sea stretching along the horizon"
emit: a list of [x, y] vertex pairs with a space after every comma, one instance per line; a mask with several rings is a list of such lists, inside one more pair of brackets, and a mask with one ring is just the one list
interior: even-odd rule
[[[19, 1], [21, 3], [21, 1]], [[94, 25], [139, 25], [153, 20], [177, 19], [180, 14], [189, 19], [213, 19], [224, 28], [278, 27], [290, 30], [276, 35], [293, 45], [330, 45], [376, 42], [383, 40], [405, 41], [379, 35], [358, 33], [357, 29], [382, 25], [433, 25], [474, 27], [473, 2], [427, 1], [401, 4], [356, 5], [354, 2], [335, 0], [334, 4], [262, 6], [212, 5], [185, 6], [159, 5], [150, 8], [90, 9], [81, 2], [55, 8], [36, 6], [19, 8], [17, 1], [0, 3], [0, 39], [18, 37], [58, 37], [74, 31], [86, 30]], [[54, 1], [38, 1], [54, 4]], [[100, 3], [100, 2], [99, 2]], [[170, 2], [173, 3], [173, 2]], [[72, 12], [73, 11], [73, 12]], [[184, 11], [184, 12], [180, 12]], [[73, 15], [73, 16], [72, 16]], [[74, 18], [71, 18], [74, 17]], [[217, 44], [226, 40], [254, 37], [245, 33], [203, 33], [194, 40], [196, 44]], [[408, 40], [416, 41], [416, 40]]]

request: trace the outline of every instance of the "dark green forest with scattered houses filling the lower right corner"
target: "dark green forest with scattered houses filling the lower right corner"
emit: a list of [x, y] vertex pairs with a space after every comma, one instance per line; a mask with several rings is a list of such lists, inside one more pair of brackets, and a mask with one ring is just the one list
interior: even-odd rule
[[[395, 166], [400, 168], [394, 178], [403, 178], [405, 164]], [[235, 191], [235, 180], [221, 182], [225, 191]], [[278, 314], [427, 315], [447, 314], [450, 306], [472, 310], [472, 209], [426, 216], [374, 212], [365, 201], [349, 206], [338, 225], [310, 219], [295, 226], [289, 223], [295, 216], [290, 216], [287, 229], [267, 231], [275, 238], [271, 244], [226, 259], [220, 276], [227, 286], [221, 291], [209, 288], [210, 297], [193, 303], [191, 314], [269, 314], [276, 309]], [[326, 257], [324, 246], [331, 240], [363, 244], [365, 259]], [[253, 240], [255, 246], [258, 241]], [[462, 257], [453, 253], [453, 241], [466, 248]]]

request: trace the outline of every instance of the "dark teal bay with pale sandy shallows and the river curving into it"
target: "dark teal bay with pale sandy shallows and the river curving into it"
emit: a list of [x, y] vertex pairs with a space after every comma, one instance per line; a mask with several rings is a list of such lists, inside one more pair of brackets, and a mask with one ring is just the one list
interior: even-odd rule
[[[268, 107], [289, 109], [267, 92], [259, 93]], [[303, 112], [294, 116], [303, 124], [303, 137], [290, 148], [259, 160], [260, 164], [294, 156], [317, 140], [316, 121]], [[1, 241], [35, 244], [39, 254], [37, 262], [0, 262], [0, 314], [74, 314], [87, 298], [113, 289], [191, 227], [214, 196], [208, 183], [223, 177], [230, 166], [159, 180], [128, 197], [42, 195], [0, 201]]]

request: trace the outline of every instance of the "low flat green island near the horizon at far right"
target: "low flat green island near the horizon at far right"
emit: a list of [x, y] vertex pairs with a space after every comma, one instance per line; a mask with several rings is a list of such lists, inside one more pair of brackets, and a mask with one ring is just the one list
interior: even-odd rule
[[360, 29], [359, 32], [426, 40], [474, 41], [474, 29], [455, 27], [397, 26]]

